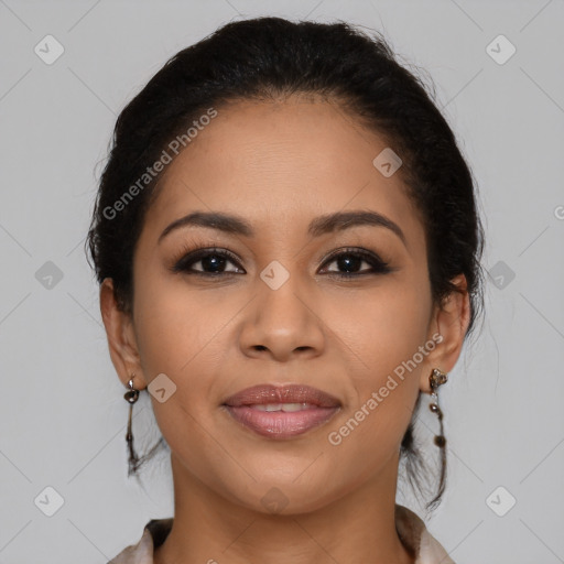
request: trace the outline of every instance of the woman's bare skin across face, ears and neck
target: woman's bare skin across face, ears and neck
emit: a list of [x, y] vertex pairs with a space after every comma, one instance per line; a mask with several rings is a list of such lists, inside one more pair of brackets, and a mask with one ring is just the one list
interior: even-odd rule
[[[176, 386], [151, 395], [171, 447], [173, 529], [156, 564], [276, 562], [413, 563], [394, 527], [400, 443], [433, 368], [455, 366], [469, 321], [460, 293], [431, 299], [426, 243], [399, 173], [372, 160], [387, 145], [334, 102], [297, 98], [238, 101], [218, 116], [165, 171], [133, 261], [133, 315], [117, 308], [111, 279], [100, 288], [110, 355], [127, 386], [144, 389], [160, 373]], [[308, 223], [343, 210], [375, 210], [390, 229], [356, 226], [312, 238]], [[254, 237], [189, 226], [158, 238], [195, 210], [246, 218]], [[173, 273], [186, 245], [230, 250], [221, 274]], [[378, 254], [393, 269], [347, 267], [341, 247]], [[272, 290], [260, 278], [273, 260], [289, 280]], [[202, 262], [192, 264], [202, 271]], [[214, 268], [212, 267], [212, 270]], [[239, 273], [237, 273], [239, 272]], [[368, 272], [368, 274], [358, 274]], [[417, 347], [443, 336], [416, 369], [338, 446], [327, 435], [349, 420]], [[238, 424], [220, 406], [243, 388], [307, 383], [337, 397], [341, 410], [292, 440], [273, 441]], [[436, 448], [430, 445], [430, 448]], [[282, 491], [279, 512], [261, 499]]]

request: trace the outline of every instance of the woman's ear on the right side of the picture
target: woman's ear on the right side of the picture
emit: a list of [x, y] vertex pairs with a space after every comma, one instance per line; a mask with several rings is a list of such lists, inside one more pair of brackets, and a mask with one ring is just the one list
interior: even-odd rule
[[[459, 274], [452, 282], [458, 290], [451, 292], [442, 304], [435, 304], [433, 307], [429, 338], [435, 335], [437, 345], [426, 356], [425, 368], [421, 375], [420, 389], [425, 393], [431, 393], [429, 377], [433, 368], [448, 373], [456, 365], [470, 321], [470, 300], [466, 276]], [[442, 337], [440, 343], [436, 334]]]

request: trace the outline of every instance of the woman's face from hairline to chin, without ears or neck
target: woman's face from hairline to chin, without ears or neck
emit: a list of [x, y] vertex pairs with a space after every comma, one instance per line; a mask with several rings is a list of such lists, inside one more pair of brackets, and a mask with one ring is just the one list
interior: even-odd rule
[[[425, 234], [400, 173], [372, 164], [386, 148], [327, 101], [243, 101], [167, 165], [134, 252], [135, 382], [165, 375], [160, 430], [225, 499], [267, 511], [278, 488], [300, 512], [377, 479], [440, 366]], [[247, 229], [200, 216], [162, 235], [196, 212]], [[365, 220], [327, 220], [349, 213]], [[257, 384], [306, 384], [337, 406], [239, 409], [252, 429], [225, 403]]]

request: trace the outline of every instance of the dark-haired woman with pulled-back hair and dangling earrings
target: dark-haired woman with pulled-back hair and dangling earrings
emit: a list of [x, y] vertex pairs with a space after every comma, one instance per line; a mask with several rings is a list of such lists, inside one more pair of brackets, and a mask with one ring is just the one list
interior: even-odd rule
[[[88, 247], [109, 350], [171, 451], [174, 517], [112, 563], [447, 563], [395, 503], [422, 394], [481, 307], [446, 121], [380, 37], [229, 23], [118, 118]], [[159, 446], [159, 444], [156, 446]]]

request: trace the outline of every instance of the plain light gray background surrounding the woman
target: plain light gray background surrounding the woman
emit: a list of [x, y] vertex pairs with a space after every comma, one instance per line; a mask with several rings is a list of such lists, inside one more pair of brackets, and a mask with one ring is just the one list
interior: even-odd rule
[[[121, 108], [176, 51], [260, 14], [381, 30], [435, 82], [492, 275], [481, 334], [441, 389], [449, 481], [427, 527], [458, 564], [564, 562], [562, 0], [0, 0], [0, 563], [105, 563], [172, 516], [166, 452], [143, 487], [127, 478], [128, 405], [84, 238]], [[34, 52], [47, 34], [65, 50], [51, 65]], [[503, 64], [487, 51], [499, 34], [517, 48]], [[134, 413], [152, 445], [145, 394]], [[52, 517], [46, 487], [64, 500]]]

